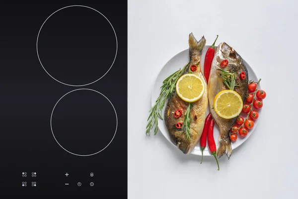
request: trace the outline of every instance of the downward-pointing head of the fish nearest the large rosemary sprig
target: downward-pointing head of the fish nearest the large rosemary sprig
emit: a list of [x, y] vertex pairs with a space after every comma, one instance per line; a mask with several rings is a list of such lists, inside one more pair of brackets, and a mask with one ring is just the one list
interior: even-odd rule
[[194, 147], [194, 142], [191, 139], [188, 139], [185, 135], [184, 131], [177, 131], [174, 134], [174, 143], [176, 146], [184, 153], [184, 154], [189, 154], [189, 152], [193, 149]]

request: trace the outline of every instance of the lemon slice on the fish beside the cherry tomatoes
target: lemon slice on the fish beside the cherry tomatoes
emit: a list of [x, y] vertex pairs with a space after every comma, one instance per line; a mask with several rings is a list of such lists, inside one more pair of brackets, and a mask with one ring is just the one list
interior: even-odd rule
[[237, 92], [224, 90], [216, 95], [213, 107], [220, 117], [230, 119], [241, 113], [243, 101]]

